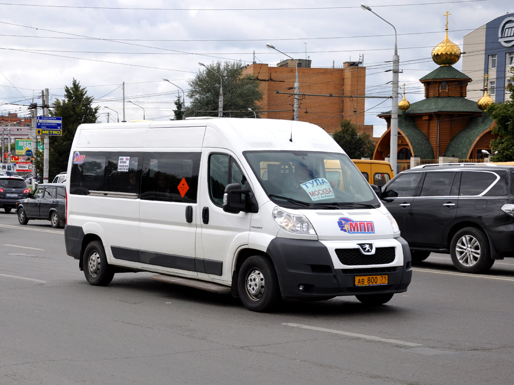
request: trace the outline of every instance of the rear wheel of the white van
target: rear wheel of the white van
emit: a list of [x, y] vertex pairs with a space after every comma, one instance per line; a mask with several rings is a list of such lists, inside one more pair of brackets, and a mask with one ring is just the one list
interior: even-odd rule
[[82, 266], [86, 281], [93, 286], [106, 286], [114, 278], [114, 270], [107, 263], [102, 242], [90, 242], [84, 250]]

